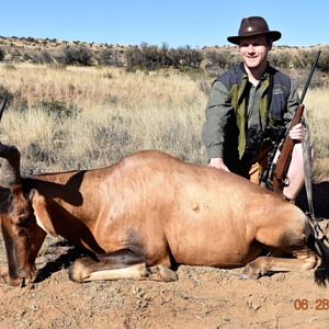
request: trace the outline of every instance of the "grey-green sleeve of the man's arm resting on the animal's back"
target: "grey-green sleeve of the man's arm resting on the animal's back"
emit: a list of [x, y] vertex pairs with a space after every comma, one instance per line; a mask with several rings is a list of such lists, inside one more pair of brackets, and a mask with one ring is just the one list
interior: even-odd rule
[[234, 111], [230, 93], [224, 83], [216, 80], [206, 105], [206, 121], [202, 131], [202, 140], [209, 159], [223, 158], [224, 132], [230, 111]]

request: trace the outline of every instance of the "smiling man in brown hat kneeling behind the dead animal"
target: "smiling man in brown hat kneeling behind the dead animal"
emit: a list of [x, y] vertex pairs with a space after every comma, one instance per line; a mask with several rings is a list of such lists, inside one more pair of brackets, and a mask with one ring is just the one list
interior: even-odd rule
[[[203, 143], [209, 166], [232, 171], [259, 183], [266, 161], [261, 140], [274, 140], [287, 127], [298, 95], [291, 79], [268, 63], [279, 31], [270, 31], [260, 16], [245, 18], [237, 36], [242, 63], [216, 79], [212, 86], [203, 126]], [[295, 147], [283, 194], [294, 201], [304, 184], [302, 124], [292, 127]]]

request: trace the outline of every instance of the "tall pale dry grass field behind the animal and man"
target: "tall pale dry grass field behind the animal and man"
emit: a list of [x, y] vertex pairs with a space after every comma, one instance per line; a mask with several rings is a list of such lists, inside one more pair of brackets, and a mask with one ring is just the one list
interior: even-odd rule
[[[206, 95], [186, 73], [21, 64], [1, 66], [0, 79], [15, 94], [0, 140], [19, 146], [25, 173], [102, 167], [141, 149], [206, 161], [201, 143]], [[318, 177], [328, 174], [328, 99], [327, 89], [309, 90], [305, 99]], [[41, 101], [75, 104], [81, 112], [58, 120], [38, 106]]]

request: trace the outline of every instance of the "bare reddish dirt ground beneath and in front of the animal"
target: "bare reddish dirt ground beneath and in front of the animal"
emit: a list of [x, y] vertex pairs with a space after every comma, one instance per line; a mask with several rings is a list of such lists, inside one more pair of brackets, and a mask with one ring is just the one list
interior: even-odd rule
[[[319, 214], [328, 212], [327, 195], [318, 195]], [[321, 223], [328, 228], [329, 220]], [[67, 268], [81, 252], [47, 238], [37, 258], [37, 283], [23, 288], [0, 284], [0, 329], [329, 328], [329, 287], [318, 286], [313, 273], [253, 281], [241, 279], [242, 269], [184, 265], [172, 283], [77, 284]], [[5, 263], [1, 237], [0, 266]]]

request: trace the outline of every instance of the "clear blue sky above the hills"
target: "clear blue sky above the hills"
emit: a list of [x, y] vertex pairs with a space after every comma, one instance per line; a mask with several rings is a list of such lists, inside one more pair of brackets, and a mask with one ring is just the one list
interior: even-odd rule
[[329, 44], [328, 0], [1, 0], [0, 35], [170, 47], [228, 45], [243, 16], [262, 15], [277, 45]]

